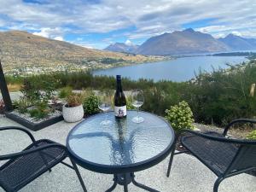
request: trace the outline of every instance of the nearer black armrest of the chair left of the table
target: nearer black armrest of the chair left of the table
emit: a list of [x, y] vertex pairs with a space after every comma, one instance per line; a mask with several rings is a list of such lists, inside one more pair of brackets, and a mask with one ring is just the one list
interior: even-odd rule
[[44, 150], [46, 148], [61, 148], [61, 149], [64, 149], [67, 153], [67, 148], [65, 146], [63, 146], [59, 143], [50, 143], [50, 144], [46, 144], [44, 146], [40, 146], [40, 147], [37, 147], [37, 148], [26, 149], [24, 151], [20, 151], [20, 152], [14, 153], [14, 154], [0, 155], [0, 160], [10, 160], [10, 159], [19, 158], [21, 156], [25, 156], [27, 154], [32, 154], [32, 153]]

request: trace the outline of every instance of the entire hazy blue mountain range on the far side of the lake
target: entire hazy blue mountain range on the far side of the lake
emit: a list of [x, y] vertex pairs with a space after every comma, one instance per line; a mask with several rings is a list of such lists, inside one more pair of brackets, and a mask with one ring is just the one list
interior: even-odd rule
[[116, 43], [106, 48], [113, 52], [141, 55], [189, 55], [255, 49], [255, 38], [241, 38], [234, 34], [225, 38], [213, 38], [210, 34], [195, 32], [191, 28], [148, 38], [140, 46]]

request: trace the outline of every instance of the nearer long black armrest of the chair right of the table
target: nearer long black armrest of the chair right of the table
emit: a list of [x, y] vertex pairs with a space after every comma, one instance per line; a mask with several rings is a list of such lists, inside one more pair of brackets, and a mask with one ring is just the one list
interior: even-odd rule
[[251, 140], [243, 140], [243, 139], [234, 139], [234, 138], [226, 138], [226, 137], [215, 137], [215, 136], [210, 136], [207, 135], [206, 133], [198, 132], [198, 131], [191, 131], [191, 130], [184, 130], [183, 133], [190, 133], [198, 137], [204, 137], [209, 140], [217, 141], [217, 142], [222, 142], [222, 143], [233, 143], [233, 144], [253, 144], [256, 145], [256, 140], [251, 141]]

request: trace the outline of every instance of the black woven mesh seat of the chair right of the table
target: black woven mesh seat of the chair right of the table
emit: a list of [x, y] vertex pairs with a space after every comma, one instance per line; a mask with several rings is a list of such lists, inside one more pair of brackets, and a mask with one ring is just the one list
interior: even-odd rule
[[[216, 132], [204, 132], [213, 137], [224, 137]], [[184, 136], [183, 146], [195, 155], [217, 176], [222, 175], [236, 155], [238, 147], [232, 143], [221, 143], [195, 135]]]

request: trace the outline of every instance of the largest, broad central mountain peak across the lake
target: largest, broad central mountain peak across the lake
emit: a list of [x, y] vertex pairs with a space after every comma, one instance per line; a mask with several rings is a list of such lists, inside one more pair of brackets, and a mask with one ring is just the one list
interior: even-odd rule
[[184, 55], [227, 51], [230, 48], [211, 35], [189, 28], [149, 38], [138, 49], [142, 55]]

